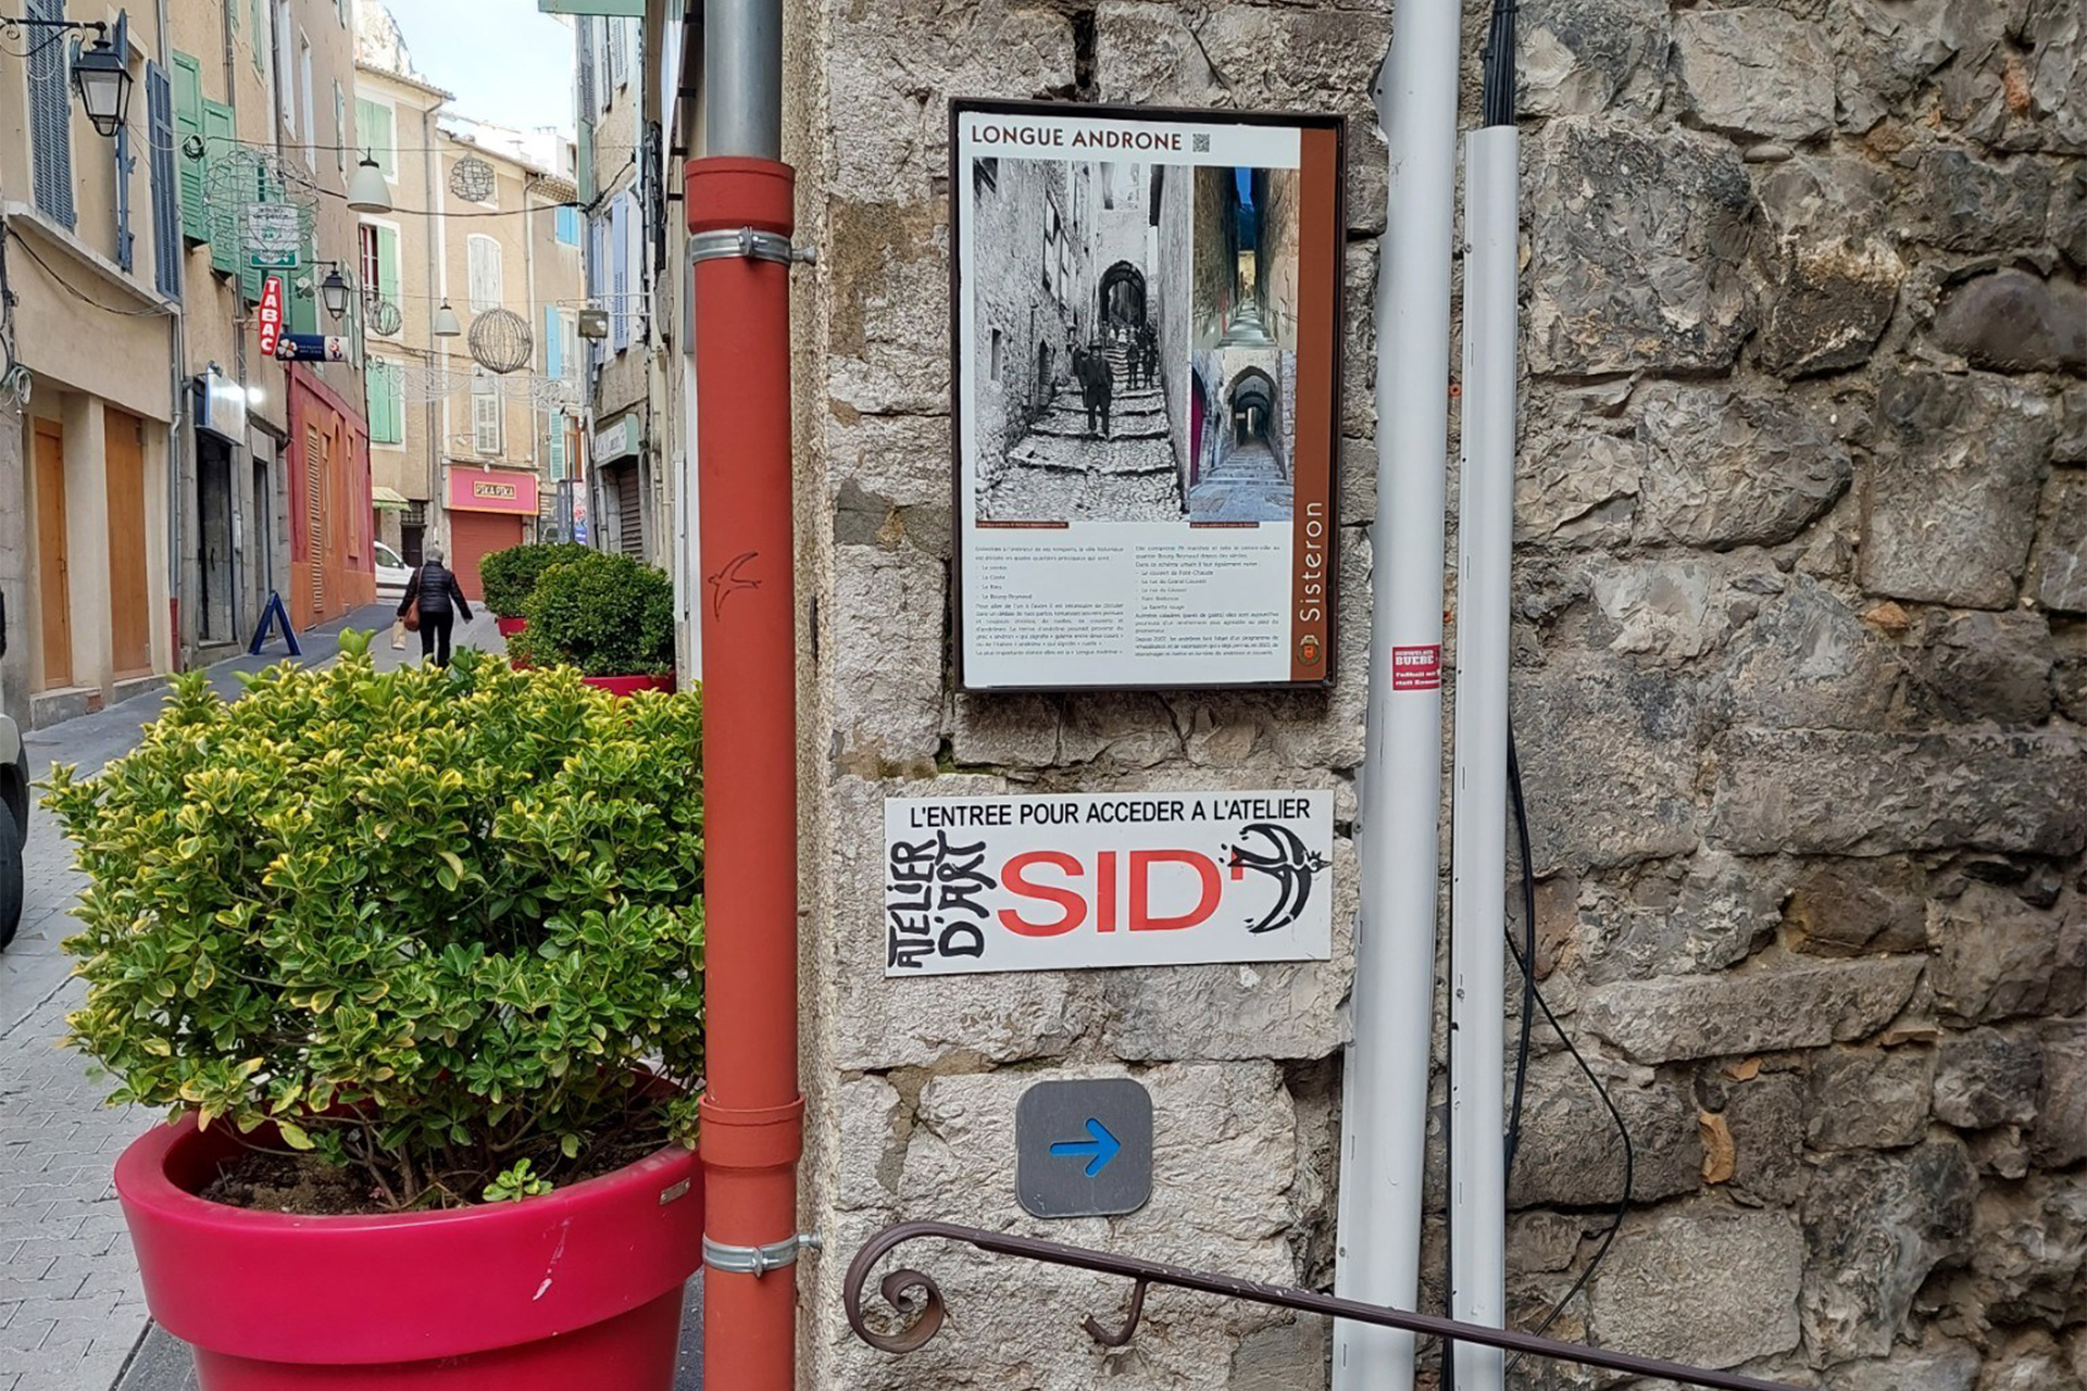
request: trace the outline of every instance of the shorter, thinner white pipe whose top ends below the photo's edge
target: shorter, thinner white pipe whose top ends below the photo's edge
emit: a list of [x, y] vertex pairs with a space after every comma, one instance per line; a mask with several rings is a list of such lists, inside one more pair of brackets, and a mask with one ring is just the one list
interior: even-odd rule
[[[1515, 544], [1517, 136], [1465, 136], [1463, 507], [1450, 778], [1450, 1316], [1507, 1320], [1507, 659]], [[1501, 1349], [1457, 1345], [1457, 1391], [1498, 1391]]]

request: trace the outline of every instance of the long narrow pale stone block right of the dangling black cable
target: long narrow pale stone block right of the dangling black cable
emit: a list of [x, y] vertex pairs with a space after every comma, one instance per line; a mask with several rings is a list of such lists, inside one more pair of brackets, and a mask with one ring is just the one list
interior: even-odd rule
[[1590, 989], [1588, 1030], [1642, 1064], [1807, 1049], [1866, 1039], [1914, 993], [1920, 961], [1778, 963]]

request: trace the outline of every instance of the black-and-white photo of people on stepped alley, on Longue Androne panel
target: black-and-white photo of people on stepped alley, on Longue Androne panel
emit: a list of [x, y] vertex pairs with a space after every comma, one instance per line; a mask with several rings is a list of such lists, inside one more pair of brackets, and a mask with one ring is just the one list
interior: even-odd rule
[[1188, 513], [1192, 175], [970, 161], [979, 523]]

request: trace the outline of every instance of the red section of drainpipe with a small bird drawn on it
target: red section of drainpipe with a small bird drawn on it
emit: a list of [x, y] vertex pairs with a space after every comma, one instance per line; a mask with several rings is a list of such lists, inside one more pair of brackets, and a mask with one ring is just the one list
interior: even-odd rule
[[[768, 158], [714, 156], [689, 161], [685, 177], [689, 231], [699, 238], [703, 1372], [730, 1391], [793, 1391], [803, 1097], [789, 263], [762, 250], [787, 257], [795, 173]], [[770, 1262], [781, 1264], [745, 1270]]]

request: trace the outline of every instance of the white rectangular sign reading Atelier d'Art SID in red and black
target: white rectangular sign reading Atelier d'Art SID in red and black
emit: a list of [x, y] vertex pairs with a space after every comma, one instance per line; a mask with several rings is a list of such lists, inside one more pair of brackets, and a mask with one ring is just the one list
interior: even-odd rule
[[1332, 792], [885, 801], [885, 974], [1323, 961]]

